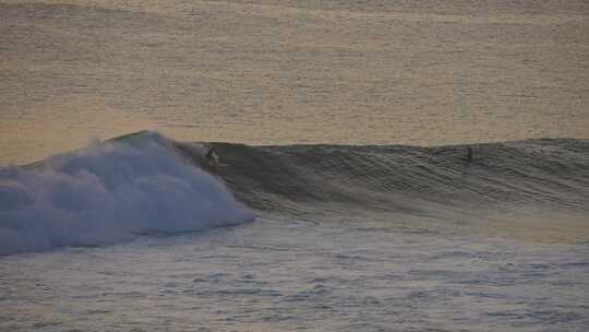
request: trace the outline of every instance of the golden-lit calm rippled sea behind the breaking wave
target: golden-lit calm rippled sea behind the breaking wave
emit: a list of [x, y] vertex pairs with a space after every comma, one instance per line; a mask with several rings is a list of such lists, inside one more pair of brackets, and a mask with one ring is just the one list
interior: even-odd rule
[[589, 139], [582, 1], [449, 1], [443, 11], [410, 1], [47, 3], [4, 4], [0, 163], [143, 129], [249, 144]]

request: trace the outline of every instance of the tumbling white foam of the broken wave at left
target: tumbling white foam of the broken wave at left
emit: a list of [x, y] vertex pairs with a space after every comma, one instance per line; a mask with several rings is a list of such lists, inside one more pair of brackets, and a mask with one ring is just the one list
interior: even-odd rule
[[221, 181], [152, 132], [0, 168], [1, 254], [112, 244], [252, 217]]

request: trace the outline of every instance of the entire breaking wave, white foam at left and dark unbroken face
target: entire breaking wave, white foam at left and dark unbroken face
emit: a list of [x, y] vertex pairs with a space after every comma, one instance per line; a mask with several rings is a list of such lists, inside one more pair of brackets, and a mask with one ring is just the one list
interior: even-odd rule
[[[205, 163], [211, 146], [221, 165]], [[315, 218], [539, 211], [582, 220], [589, 141], [248, 146], [176, 142], [144, 131], [0, 167], [0, 254], [235, 225], [253, 220], [244, 205]]]

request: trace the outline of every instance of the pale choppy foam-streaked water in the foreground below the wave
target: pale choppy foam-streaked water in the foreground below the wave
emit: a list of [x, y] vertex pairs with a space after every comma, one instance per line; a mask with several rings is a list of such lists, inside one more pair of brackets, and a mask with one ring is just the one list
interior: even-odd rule
[[[262, 218], [2, 259], [2, 331], [582, 331], [587, 245]], [[200, 331], [200, 330], [199, 330]]]

